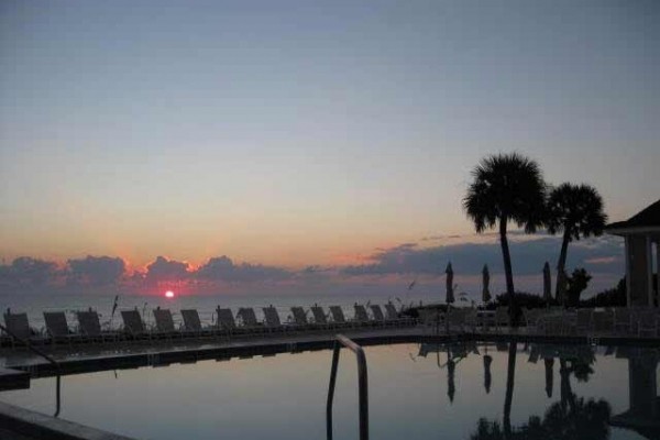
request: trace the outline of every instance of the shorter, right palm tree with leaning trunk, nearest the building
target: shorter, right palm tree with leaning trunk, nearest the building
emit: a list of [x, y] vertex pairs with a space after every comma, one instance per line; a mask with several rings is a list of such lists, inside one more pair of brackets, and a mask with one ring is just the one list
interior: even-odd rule
[[[563, 274], [566, 264], [569, 243], [581, 238], [598, 237], [607, 222], [603, 212], [603, 199], [590, 185], [561, 184], [548, 197], [547, 227], [551, 234], [563, 232], [561, 252], [557, 262], [557, 273]], [[560, 289], [557, 279], [556, 295]]]

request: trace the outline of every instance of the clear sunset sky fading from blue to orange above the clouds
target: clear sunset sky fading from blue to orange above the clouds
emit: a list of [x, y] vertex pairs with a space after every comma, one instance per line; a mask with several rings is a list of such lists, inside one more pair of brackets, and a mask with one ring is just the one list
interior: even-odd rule
[[[658, 23], [641, 0], [2, 1], [0, 257], [477, 274], [501, 257], [461, 199], [487, 154], [595, 186], [613, 221], [660, 197]], [[538, 239], [518, 261], [556, 261]], [[614, 279], [617, 243], [573, 261]]]

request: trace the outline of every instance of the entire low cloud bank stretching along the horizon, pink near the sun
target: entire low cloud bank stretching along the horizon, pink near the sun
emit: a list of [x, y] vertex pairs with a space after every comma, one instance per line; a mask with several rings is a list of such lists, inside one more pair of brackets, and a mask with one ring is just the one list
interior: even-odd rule
[[[495, 237], [483, 238], [485, 242], [442, 245], [429, 245], [432, 240], [422, 239], [419, 243], [377, 249], [364, 264], [310, 264], [300, 270], [235, 263], [227, 255], [211, 257], [199, 267], [157, 256], [143, 271], [134, 272], [130, 272], [125, 262], [117, 256], [89, 255], [68, 260], [64, 265], [23, 256], [0, 265], [0, 289], [2, 293], [44, 288], [157, 293], [163, 286], [173, 286], [190, 293], [227, 289], [237, 293], [268, 289], [279, 293], [287, 289], [292, 293], [348, 292], [370, 286], [373, 289], [400, 288], [400, 285], [407, 285], [417, 277], [424, 279], [420, 284], [440, 289], [449, 262], [462, 286], [473, 289], [477, 288], [482, 267], [487, 264], [497, 288], [504, 272], [502, 251]], [[554, 266], [560, 245], [561, 241], [556, 237], [536, 235], [530, 239], [529, 235], [513, 234], [510, 251], [517, 286], [537, 289], [537, 278], [543, 264], [548, 261]], [[568, 267], [585, 267], [594, 275], [592, 287], [608, 287], [625, 272], [623, 242], [613, 237], [573, 242], [569, 248]]]

